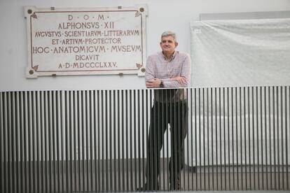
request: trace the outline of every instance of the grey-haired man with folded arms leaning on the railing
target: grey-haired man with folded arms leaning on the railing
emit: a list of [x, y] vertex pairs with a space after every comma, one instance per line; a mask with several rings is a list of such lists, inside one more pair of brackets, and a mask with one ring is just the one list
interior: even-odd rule
[[142, 190], [158, 190], [160, 174], [160, 150], [164, 133], [170, 124], [170, 190], [180, 190], [181, 169], [184, 166], [184, 138], [188, 127], [188, 105], [186, 90], [191, 79], [191, 59], [188, 54], [178, 52], [176, 34], [165, 31], [161, 35], [160, 47], [147, 59], [145, 80], [148, 88], [154, 90], [154, 103], [151, 109], [151, 121], [147, 145], [146, 184]]

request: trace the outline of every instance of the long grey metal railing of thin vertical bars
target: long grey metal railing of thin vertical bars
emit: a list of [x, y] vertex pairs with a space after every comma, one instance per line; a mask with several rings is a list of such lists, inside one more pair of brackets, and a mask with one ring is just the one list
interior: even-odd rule
[[[186, 90], [181, 190], [290, 190], [289, 86]], [[137, 191], [153, 98], [153, 90], [0, 92], [0, 192]], [[161, 191], [170, 190], [170, 136]]]

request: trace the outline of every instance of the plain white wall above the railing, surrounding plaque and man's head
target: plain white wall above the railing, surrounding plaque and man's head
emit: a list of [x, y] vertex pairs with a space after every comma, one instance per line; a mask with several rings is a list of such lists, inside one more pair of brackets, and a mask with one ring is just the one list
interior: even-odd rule
[[[290, 0], [1, 0], [0, 1], [0, 91], [62, 90], [98, 88], [145, 88], [144, 78], [120, 76], [58, 76], [26, 79], [27, 36], [23, 6], [36, 7], [112, 7], [146, 3], [147, 53], [160, 50], [160, 34], [172, 30], [178, 34], [179, 50], [190, 52], [189, 23], [200, 13], [234, 13], [290, 10]], [[194, 70], [194, 68], [193, 68]]]

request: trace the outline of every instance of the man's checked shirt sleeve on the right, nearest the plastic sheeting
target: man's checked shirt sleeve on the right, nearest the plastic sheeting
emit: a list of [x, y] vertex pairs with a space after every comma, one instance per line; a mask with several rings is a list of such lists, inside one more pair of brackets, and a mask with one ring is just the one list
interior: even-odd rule
[[181, 64], [180, 76], [186, 78], [186, 83], [180, 84], [170, 78], [163, 79], [164, 87], [188, 87], [191, 83], [191, 57], [188, 54], [184, 55], [184, 60]]

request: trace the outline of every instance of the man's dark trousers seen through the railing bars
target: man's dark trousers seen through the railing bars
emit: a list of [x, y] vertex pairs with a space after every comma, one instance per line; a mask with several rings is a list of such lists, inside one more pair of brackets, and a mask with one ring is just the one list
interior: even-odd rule
[[173, 190], [178, 189], [181, 170], [184, 167], [184, 138], [188, 130], [188, 104], [187, 101], [173, 103], [155, 101], [151, 108], [147, 143], [146, 190], [158, 190], [160, 150], [168, 124], [170, 124], [171, 132], [170, 187]]

